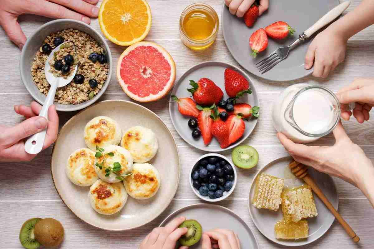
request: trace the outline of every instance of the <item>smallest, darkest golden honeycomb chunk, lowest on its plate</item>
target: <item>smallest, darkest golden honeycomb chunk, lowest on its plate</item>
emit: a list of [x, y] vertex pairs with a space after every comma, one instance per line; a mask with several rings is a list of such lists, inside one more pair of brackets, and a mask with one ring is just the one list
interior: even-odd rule
[[305, 239], [308, 237], [308, 221], [285, 222], [281, 220], [275, 223], [275, 237], [284, 240]]

